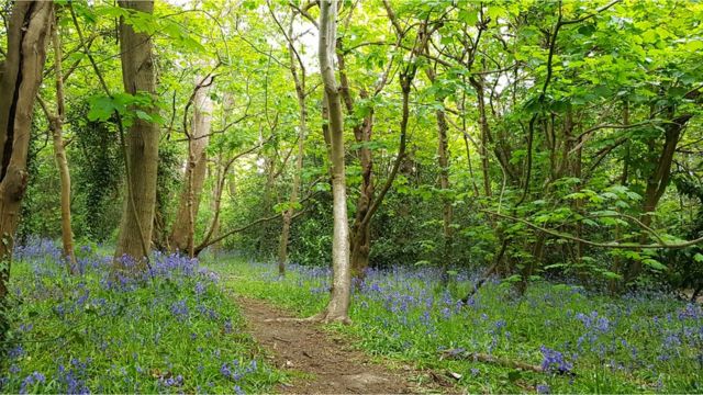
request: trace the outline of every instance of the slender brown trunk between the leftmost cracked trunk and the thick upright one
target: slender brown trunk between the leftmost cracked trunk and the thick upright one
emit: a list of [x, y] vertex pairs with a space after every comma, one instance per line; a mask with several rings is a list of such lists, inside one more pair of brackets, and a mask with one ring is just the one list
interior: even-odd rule
[[[54, 72], [56, 74], [56, 114], [49, 117], [49, 128], [54, 140], [54, 157], [60, 181], [60, 206], [62, 206], [62, 241], [64, 247], [64, 259], [68, 272], [78, 273], [76, 264], [76, 253], [74, 251], [74, 232], [70, 224], [70, 172], [68, 170], [68, 159], [66, 147], [64, 146], [64, 120], [66, 110], [64, 108], [64, 71], [62, 69], [62, 44], [58, 37], [58, 26], [56, 23], [52, 29], [52, 42], [54, 46]], [[47, 113], [48, 115], [48, 113]]]

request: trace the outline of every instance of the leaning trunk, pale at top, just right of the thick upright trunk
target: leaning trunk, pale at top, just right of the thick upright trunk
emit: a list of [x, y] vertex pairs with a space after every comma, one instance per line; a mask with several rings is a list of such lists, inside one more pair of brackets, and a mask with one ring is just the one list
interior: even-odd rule
[[[202, 82], [202, 83], [201, 83]], [[192, 257], [194, 244], [194, 224], [200, 208], [202, 185], [208, 171], [208, 143], [212, 122], [212, 100], [210, 99], [210, 81], [201, 77], [197, 79], [193, 99], [192, 131], [188, 139], [188, 166], [178, 203], [176, 221], [171, 228], [169, 246], [175, 251]]]

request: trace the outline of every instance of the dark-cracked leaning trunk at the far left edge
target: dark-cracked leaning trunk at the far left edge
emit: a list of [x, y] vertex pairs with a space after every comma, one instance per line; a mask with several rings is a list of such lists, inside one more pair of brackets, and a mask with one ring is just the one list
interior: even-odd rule
[[42, 83], [54, 4], [15, 2], [9, 18], [7, 56], [0, 70], [0, 342], [8, 329], [10, 263], [26, 189], [32, 113]]

